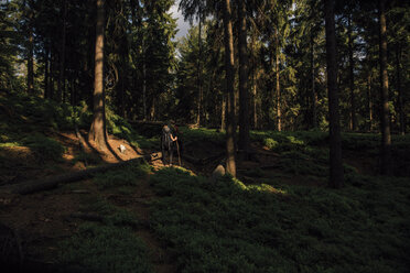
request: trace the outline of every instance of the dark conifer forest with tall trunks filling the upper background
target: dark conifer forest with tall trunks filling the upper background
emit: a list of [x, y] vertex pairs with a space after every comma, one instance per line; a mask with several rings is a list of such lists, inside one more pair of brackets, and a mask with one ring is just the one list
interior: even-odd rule
[[381, 133], [390, 173], [410, 120], [408, 3], [182, 0], [179, 41], [173, 4], [1, 1], [0, 89], [93, 109], [90, 132], [106, 113], [220, 128], [234, 175], [249, 129], [330, 130], [338, 170], [341, 131]]

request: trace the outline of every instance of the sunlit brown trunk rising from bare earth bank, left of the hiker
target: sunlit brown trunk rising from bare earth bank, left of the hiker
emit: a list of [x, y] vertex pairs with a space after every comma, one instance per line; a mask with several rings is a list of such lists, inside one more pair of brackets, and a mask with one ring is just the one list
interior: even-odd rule
[[99, 149], [106, 149], [106, 113], [105, 91], [102, 83], [104, 73], [104, 0], [97, 0], [97, 23], [96, 23], [96, 55], [95, 55], [95, 78], [94, 78], [94, 119], [89, 129], [88, 139], [96, 142]]

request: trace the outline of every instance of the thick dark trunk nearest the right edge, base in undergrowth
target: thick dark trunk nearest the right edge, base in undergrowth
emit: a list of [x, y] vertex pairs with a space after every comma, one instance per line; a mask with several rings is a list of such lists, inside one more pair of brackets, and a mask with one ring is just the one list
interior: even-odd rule
[[381, 95], [381, 174], [391, 174], [391, 135], [389, 112], [389, 81], [387, 77], [387, 30], [386, 0], [379, 0], [379, 55], [380, 55], [380, 95]]

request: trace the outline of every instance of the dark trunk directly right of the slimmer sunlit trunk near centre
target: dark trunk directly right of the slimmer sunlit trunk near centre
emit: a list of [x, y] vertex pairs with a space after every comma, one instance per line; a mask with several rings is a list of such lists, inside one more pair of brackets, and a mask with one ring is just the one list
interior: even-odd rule
[[247, 53], [247, 28], [246, 3], [239, 1], [239, 149], [245, 151], [248, 157], [249, 150], [249, 90], [248, 90], [248, 53]]

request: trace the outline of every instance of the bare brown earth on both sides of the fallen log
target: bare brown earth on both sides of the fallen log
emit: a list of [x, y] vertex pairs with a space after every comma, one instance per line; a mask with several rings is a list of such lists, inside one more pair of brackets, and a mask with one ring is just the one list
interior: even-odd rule
[[[85, 131], [82, 131], [82, 135], [86, 140], [86, 145], [83, 148], [79, 144], [82, 141], [74, 132], [47, 133], [48, 138], [58, 141], [65, 148], [62, 160], [56, 162], [39, 160], [35, 152], [28, 146], [1, 149], [0, 156], [8, 159], [7, 166], [0, 167], [1, 184], [7, 186], [33, 178], [40, 179], [62, 173], [77, 172], [104, 163], [118, 163], [141, 157], [142, 154], [152, 152], [152, 150], [143, 151], [134, 148], [128, 141], [115, 135], [109, 135], [108, 149], [101, 151], [93, 141], [87, 141]], [[120, 152], [120, 145], [126, 148], [123, 153]], [[77, 161], [78, 156], [82, 159]], [[152, 167], [160, 170], [164, 166], [160, 160], [157, 160], [152, 162]], [[55, 258], [58, 255], [58, 242], [72, 237], [78, 226], [87, 221], [87, 219], [76, 218], [75, 215], [79, 211], [84, 214], [82, 205], [87, 203], [87, 199], [94, 198], [106, 199], [131, 211], [141, 222], [149, 222], [150, 211], [147, 204], [155, 198], [155, 195], [149, 186], [149, 176], [140, 181], [138, 188], [131, 195], [102, 193], [94, 185], [93, 179], [31, 195], [10, 195], [1, 193], [0, 189], [0, 223], [15, 232], [14, 236], [18, 237], [19, 248], [21, 248], [20, 255], [23, 255], [28, 267], [37, 266], [43, 270], [45, 266], [46, 270], [48, 266], [52, 272], [55, 270]], [[134, 231], [149, 247], [155, 272], [175, 272], [170, 263], [171, 260], [166, 258], [166, 251], [148, 226], [139, 227]], [[8, 253], [11, 249], [8, 250], [7, 245], [3, 248], [3, 256], [19, 254]], [[11, 258], [13, 259], [15, 258]], [[166, 263], [163, 262], [164, 259]], [[13, 272], [14, 270], [19, 271], [12, 269]], [[25, 266], [22, 272], [24, 270]]]

